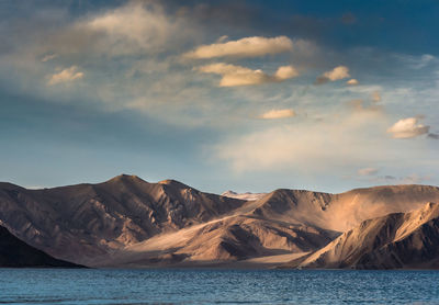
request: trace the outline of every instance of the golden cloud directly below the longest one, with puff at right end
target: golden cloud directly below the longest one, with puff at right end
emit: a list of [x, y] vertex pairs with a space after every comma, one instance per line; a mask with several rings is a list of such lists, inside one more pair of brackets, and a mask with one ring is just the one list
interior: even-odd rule
[[273, 76], [269, 76], [259, 69], [252, 70], [246, 67], [224, 63], [202, 66], [198, 68], [198, 70], [203, 74], [221, 75], [223, 78], [219, 81], [219, 87], [280, 82], [299, 76], [299, 72], [292, 66], [279, 67]]

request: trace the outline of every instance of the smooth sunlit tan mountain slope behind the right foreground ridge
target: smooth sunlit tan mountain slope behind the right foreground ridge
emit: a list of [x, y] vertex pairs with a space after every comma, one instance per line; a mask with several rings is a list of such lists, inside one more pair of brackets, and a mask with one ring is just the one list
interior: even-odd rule
[[252, 215], [345, 231], [362, 221], [439, 202], [439, 188], [389, 185], [341, 194], [277, 190], [254, 203]]

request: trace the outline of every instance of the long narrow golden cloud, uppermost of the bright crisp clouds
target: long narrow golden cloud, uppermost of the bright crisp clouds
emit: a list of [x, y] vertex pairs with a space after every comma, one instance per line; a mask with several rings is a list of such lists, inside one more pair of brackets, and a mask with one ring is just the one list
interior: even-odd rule
[[293, 49], [293, 42], [286, 36], [273, 38], [246, 37], [238, 41], [202, 45], [184, 54], [187, 58], [217, 58], [217, 57], [258, 57], [267, 54], [278, 54]]

